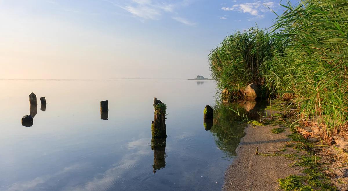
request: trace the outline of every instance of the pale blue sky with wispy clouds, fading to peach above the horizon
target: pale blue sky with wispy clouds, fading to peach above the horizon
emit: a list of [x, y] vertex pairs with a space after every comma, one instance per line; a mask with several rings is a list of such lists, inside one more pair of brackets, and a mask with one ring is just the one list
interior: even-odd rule
[[0, 0], [0, 78], [209, 76], [210, 50], [237, 30], [270, 27], [265, 5], [281, 14], [279, 2]]

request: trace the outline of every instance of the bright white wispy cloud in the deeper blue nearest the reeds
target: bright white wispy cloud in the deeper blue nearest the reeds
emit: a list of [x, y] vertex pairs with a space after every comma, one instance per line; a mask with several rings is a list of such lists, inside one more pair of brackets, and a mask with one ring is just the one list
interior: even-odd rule
[[222, 7], [221, 9], [224, 11], [239, 11], [242, 13], [248, 13], [253, 16], [252, 19], [260, 19], [265, 16], [264, 13], [271, 12], [270, 9], [275, 9], [277, 7], [277, 4], [272, 1], [254, 1], [252, 3], [236, 4], [231, 7]]

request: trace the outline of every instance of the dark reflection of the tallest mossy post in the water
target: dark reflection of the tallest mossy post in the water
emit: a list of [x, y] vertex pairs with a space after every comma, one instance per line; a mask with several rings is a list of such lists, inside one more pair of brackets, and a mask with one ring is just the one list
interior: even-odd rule
[[166, 139], [151, 139], [151, 150], [153, 150], [153, 173], [166, 166]]

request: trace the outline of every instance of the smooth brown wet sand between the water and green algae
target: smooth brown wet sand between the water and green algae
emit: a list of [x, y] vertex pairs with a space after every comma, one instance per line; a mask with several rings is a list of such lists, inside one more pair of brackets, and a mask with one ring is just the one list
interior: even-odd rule
[[[272, 128], [279, 125], [256, 126], [249, 124], [245, 128], [246, 135], [238, 146], [237, 158], [225, 172], [223, 191], [227, 190], [278, 190], [279, 178], [285, 178], [292, 174], [301, 174], [302, 168], [290, 167], [294, 163], [291, 158], [285, 156], [263, 156], [254, 155], [256, 147], [259, 153], [281, 154], [296, 153], [291, 148], [284, 149], [286, 141], [290, 140], [286, 135], [291, 133], [288, 129], [285, 132], [274, 134]], [[299, 153], [297, 153], [299, 154]]]

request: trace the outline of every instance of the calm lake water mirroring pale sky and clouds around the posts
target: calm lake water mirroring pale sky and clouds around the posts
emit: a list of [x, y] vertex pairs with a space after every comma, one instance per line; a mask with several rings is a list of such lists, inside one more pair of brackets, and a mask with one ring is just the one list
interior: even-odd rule
[[[203, 109], [215, 102], [213, 81], [0, 80], [0, 89], [0, 190], [221, 189], [231, 158], [203, 126]], [[24, 127], [31, 92], [37, 115]], [[153, 97], [169, 114], [166, 166], [156, 174]], [[101, 100], [109, 100], [107, 121]]]

